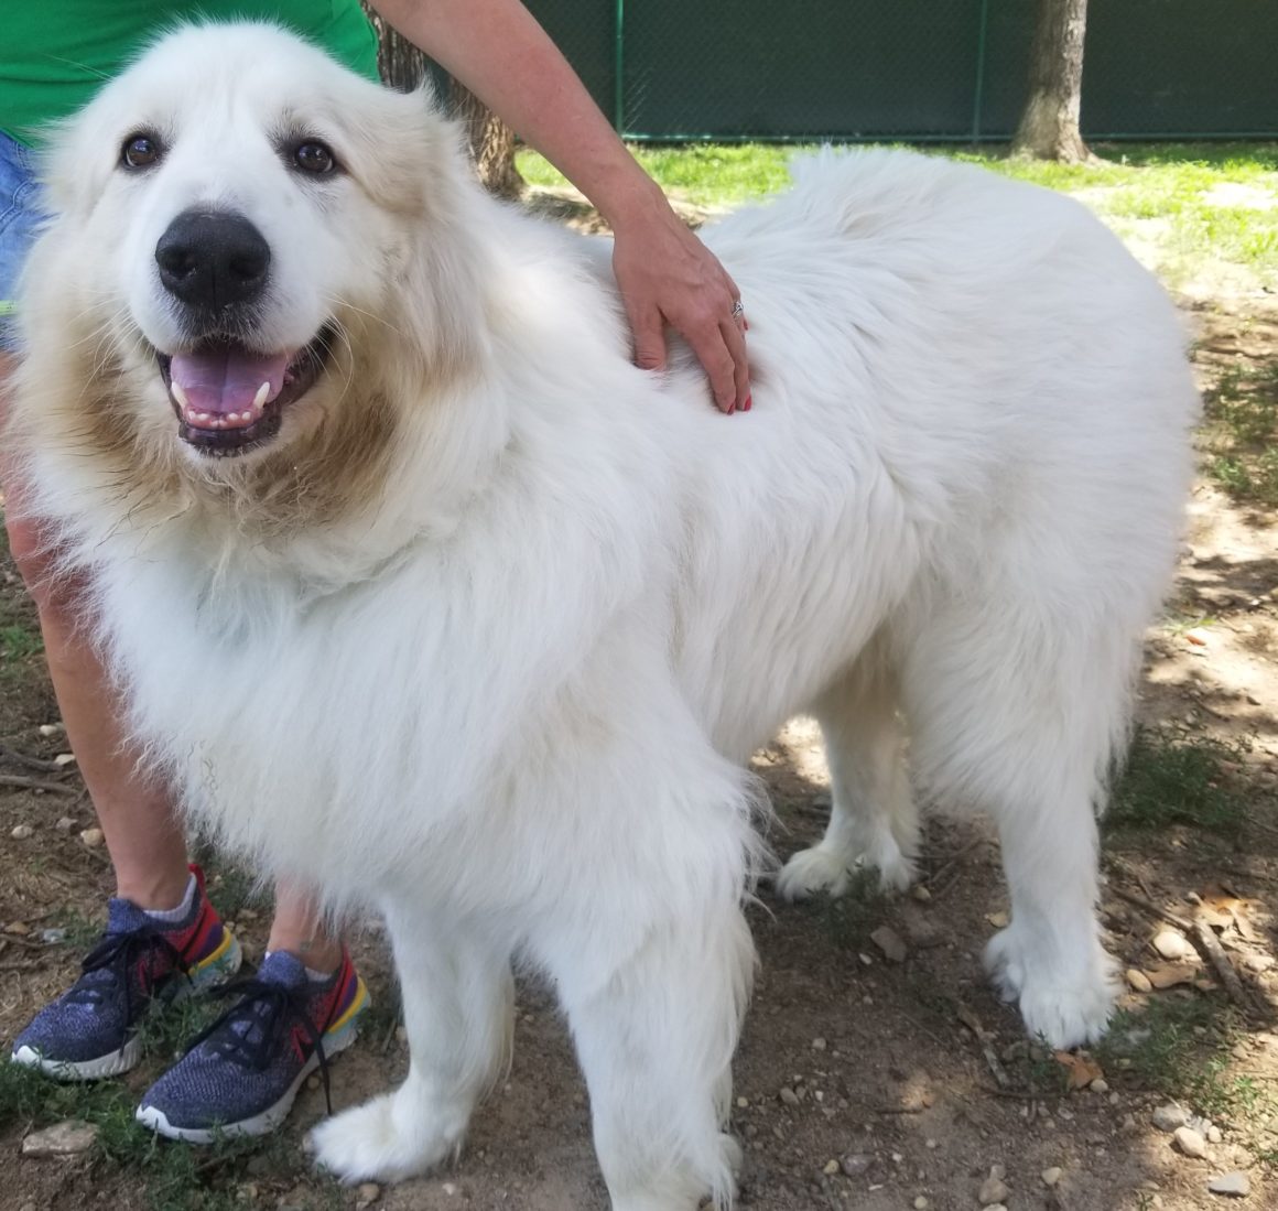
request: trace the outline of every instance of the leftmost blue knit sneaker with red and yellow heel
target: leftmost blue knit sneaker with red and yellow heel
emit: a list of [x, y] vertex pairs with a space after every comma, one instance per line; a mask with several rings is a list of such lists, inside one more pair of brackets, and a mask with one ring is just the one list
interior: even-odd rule
[[208, 903], [203, 872], [190, 871], [196, 890], [181, 921], [110, 900], [106, 932], [84, 957], [79, 980], [14, 1040], [15, 1064], [63, 1081], [128, 1072], [142, 1059], [138, 1026], [152, 1009], [235, 974], [240, 945]]

